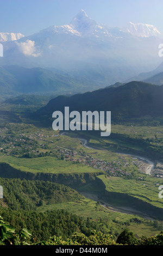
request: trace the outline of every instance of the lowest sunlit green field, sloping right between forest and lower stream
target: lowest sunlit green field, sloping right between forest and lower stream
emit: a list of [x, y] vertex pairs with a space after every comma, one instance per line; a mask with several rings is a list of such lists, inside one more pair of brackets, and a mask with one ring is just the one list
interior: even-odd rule
[[[105, 231], [111, 232], [111, 234], [120, 233], [124, 227], [129, 228], [137, 236], [153, 236], [158, 234], [161, 228], [156, 228], [148, 220], [144, 218], [137, 217], [137, 215], [131, 214], [121, 214], [120, 212], [111, 212], [109, 209], [104, 208], [102, 205], [99, 205], [94, 200], [87, 198], [80, 199], [75, 202], [59, 203], [53, 205], [43, 205], [40, 206], [37, 211], [45, 212], [47, 210], [58, 210], [64, 209], [68, 212], [76, 214], [80, 217], [90, 218], [95, 222], [104, 222]], [[140, 223], [132, 222], [131, 220], [135, 219], [140, 221]], [[161, 227], [161, 223], [160, 227]]]

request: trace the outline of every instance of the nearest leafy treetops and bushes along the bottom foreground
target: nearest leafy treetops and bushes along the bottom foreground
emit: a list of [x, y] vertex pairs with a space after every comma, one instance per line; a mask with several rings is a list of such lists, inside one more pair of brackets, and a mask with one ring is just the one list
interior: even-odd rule
[[[136, 239], [134, 233], [124, 229], [117, 240], [112, 239], [111, 235], [103, 234], [101, 231], [91, 230], [89, 235], [79, 231], [70, 234], [67, 239], [62, 236], [51, 236], [46, 241], [36, 242], [35, 237], [26, 228], [16, 231], [11, 225], [4, 222], [0, 216], [0, 245], [162, 245], [163, 233], [153, 237], [142, 236], [140, 240]], [[90, 248], [91, 250], [91, 248]], [[91, 251], [86, 251], [91, 252]]]

